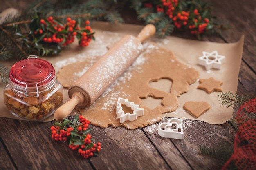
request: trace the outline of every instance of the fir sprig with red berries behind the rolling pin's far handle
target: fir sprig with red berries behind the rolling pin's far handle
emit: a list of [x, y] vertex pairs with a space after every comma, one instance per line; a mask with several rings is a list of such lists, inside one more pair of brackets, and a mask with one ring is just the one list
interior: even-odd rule
[[[139, 20], [154, 24], [160, 37], [178, 29], [189, 30], [200, 39], [203, 34], [221, 35], [230, 28], [227, 22], [219, 22], [211, 14], [209, 3], [200, 0], [131, 0], [130, 3]], [[188, 14], [186, 19], [184, 13]]]

